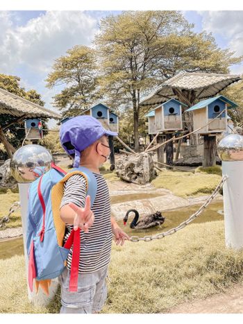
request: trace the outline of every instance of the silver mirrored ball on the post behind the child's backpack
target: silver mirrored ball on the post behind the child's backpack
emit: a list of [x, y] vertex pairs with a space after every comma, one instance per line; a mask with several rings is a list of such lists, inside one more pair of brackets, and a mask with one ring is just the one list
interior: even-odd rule
[[47, 148], [25, 145], [12, 155], [10, 170], [17, 182], [33, 182], [51, 169], [51, 161], [52, 156]]

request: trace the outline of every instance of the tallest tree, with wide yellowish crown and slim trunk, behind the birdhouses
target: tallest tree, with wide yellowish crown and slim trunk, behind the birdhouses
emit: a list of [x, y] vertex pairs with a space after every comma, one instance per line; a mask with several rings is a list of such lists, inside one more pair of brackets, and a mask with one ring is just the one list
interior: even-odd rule
[[227, 73], [242, 60], [192, 27], [177, 11], [126, 11], [101, 19], [95, 40], [101, 94], [113, 106], [131, 103], [136, 151], [142, 97], [178, 71]]

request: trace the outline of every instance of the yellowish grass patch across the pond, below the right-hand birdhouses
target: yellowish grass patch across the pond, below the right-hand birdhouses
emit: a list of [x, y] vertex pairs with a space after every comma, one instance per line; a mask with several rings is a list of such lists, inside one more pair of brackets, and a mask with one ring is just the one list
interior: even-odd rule
[[211, 194], [221, 176], [208, 173], [161, 171], [151, 183], [156, 188], [169, 189], [176, 196]]

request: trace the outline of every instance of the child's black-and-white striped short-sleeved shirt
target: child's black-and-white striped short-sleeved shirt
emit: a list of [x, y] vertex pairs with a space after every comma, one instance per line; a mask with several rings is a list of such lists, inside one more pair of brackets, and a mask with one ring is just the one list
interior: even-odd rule
[[[112, 230], [110, 222], [110, 196], [106, 180], [99, 173], [94, 173], [97, 179], [97, 195], [92, 205], [94, 223], [85, 233], [81, 230], [81, 255], [78, 273], [92, 273], [110, 262]], [[64, 194], [60, 208], [68, 203], [84, 207], [86, 196], [86, 180], [80, 174], [71, 176], [64, 184]], [[66, 225], [64, 243], [67, 241], [74, 225]], [[71, 270], [72, 248], [67, 257], [67, 268]]]

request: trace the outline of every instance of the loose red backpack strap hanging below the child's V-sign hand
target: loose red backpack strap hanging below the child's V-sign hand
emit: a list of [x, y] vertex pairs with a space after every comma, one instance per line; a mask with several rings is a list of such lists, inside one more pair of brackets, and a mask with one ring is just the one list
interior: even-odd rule
[[72, 230], [64, 247], [71, 248], [73, 244], [72, 265], [70, 271], [69, 291], [78, 291], [78, 266], [80, 258], [80, 228]]

